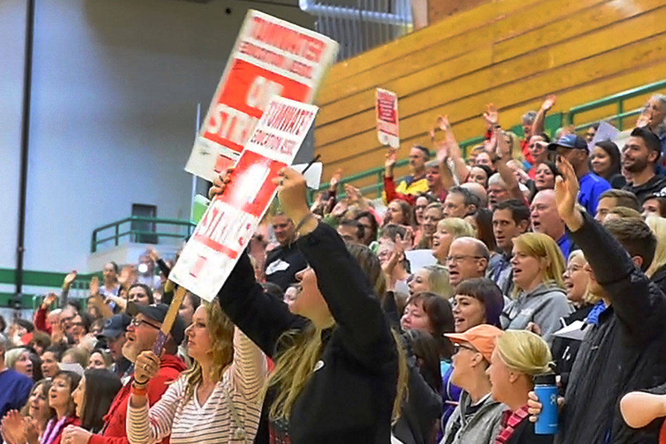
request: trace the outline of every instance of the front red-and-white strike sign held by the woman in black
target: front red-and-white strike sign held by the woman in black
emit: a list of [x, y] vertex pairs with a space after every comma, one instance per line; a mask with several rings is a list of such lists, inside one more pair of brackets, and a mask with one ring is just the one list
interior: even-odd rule
[[275, 197], [272, 179], [292, 163], [318, 108], [274, 97], [254, 127], [224, 193], [196, 226], [169, 279], [212, 300]]

